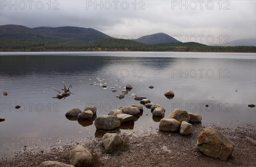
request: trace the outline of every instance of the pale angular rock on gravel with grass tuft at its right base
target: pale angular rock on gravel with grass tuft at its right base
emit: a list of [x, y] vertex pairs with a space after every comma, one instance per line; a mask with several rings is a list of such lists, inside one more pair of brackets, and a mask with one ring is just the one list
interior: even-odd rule
[[102, 137], [102, 144], [107, 153], [113, 153], [123, 147], [123, 139], [117, 133], [106, 133]]

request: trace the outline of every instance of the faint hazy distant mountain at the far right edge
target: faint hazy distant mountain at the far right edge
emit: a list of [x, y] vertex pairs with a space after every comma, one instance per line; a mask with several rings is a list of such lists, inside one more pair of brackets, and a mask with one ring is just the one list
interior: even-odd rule
[[228, 44], [211, 44], [209, 46], [256, 46], [256, 38], [233, 40]]

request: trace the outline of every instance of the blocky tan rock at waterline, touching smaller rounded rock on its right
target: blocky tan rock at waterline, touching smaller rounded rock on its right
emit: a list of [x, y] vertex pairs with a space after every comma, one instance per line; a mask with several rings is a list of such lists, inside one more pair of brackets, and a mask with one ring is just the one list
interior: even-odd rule
[[175, 132], [179, 130], [180, 122], [173, 118], [163, 118], [159, 123], [159, 130], [164, 132]]

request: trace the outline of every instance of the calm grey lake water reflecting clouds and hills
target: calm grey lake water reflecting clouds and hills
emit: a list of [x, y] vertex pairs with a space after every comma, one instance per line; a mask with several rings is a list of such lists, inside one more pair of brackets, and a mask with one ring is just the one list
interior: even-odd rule
[[[2, 52], [0, 69], [0, 116], [6, 118], [0, 122], [1, 154], [25, 145], [97, 137], [94, 121], [71, 121], [65, 113], [95, 105], [97, 116], [108, 115], [112, 109], [140, 104], [131, 93], [161, 104], [165, 118], [179, 108], [201, 114], [205, 126], [256, 122], [256, 108], [247, 107], [256, 104], [255, 53]], [[107, 89], [95, 85], [99, 80]], [[74, 82], [74, 95], [52, 98], [57, 94], [52, 87], [63, 89], [62, 81], [66, 86]], [[116, 98], [126, 84], [133, 89]], [[110, 87], [118, 87], [117, 92]], [[175, 93], [171, 100], [163, 95], [169, 89]], [[160, 121], [145, 107], [136, 119], [120, 131], [156, 131]]]

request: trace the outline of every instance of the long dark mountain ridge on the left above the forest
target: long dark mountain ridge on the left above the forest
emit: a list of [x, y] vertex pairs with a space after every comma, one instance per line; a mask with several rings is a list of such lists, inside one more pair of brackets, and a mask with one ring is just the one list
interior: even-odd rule
[[0, 26], [0, 35], [8, 36], [10, 38], [17, 38], [17, 36], [26, 36], [30, 37], [51, 37], [58, 38], [63, 40], [97, 40], [102, 38], [112, 38], [102, 32], [99, 32], [91, 28], [81, 28], [73, 26], [63, 26], [63, 27], [36, 27], [28, 28], [20, 25], [3, 25]]

